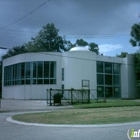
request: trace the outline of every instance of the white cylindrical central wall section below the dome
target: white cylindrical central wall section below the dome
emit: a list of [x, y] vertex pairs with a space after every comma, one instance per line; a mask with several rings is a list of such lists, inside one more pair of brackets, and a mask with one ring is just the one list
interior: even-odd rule
[[62, 67], [65, 68], [65, 89], [81, 89], [82, 80], [89, 80], [90, 89], [97, 88], [96, 54], [88, 51], [63, 53]]

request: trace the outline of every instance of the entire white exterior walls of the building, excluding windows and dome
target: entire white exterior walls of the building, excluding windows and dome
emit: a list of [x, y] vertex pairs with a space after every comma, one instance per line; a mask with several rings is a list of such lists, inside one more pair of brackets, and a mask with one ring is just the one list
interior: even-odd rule
[[[56, 84], [4, 86], [4, 67], [22, 62], [56, 61]], [[82, 80], [89, 80], [90, 89], [97, 89], [96, 62], [119, 63], [121, 65], [121, 98], [137, 98], [133, 58], [116, 58], [96, 55], [90, 51], [70, 51], [64, 53], [26, 53], [3, 60], [2, 97], [9, 99], [46, 99], [46, 89], [82, 88]], [[64, 81], [62, 81], [64, 68]]]

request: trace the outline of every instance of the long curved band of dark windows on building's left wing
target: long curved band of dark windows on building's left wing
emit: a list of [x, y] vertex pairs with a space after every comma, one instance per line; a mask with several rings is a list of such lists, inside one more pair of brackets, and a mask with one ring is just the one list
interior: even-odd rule
[[4, 67], [4, 86], [30, 84], [56, 84], [56, 62], [25, 62]]

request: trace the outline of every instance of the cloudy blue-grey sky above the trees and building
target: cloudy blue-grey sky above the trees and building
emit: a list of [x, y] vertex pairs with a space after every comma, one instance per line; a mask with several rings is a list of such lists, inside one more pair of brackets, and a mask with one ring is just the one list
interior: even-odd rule
[[[131, 27], [140, 22], [140, 0], [0, 0], [0, 46], [20, 46], [48, 23], [75, 43], [98, 44], [100, 53], [134, 53]], [[7, 50], [0, 49], [0, 55]]]

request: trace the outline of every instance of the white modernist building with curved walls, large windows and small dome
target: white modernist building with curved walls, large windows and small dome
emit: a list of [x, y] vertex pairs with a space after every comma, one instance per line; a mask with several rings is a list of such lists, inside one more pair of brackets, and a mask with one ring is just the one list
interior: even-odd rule
[[84, 86], [97, 93], [103, 91], [107, 98], [138, 97], [131, 55], [101, 56], [82, 47], [63, 53], [25, 53], [4, 59], [2, 81], [2, 97], [6, 99], [46, 99], [49, 88]]

